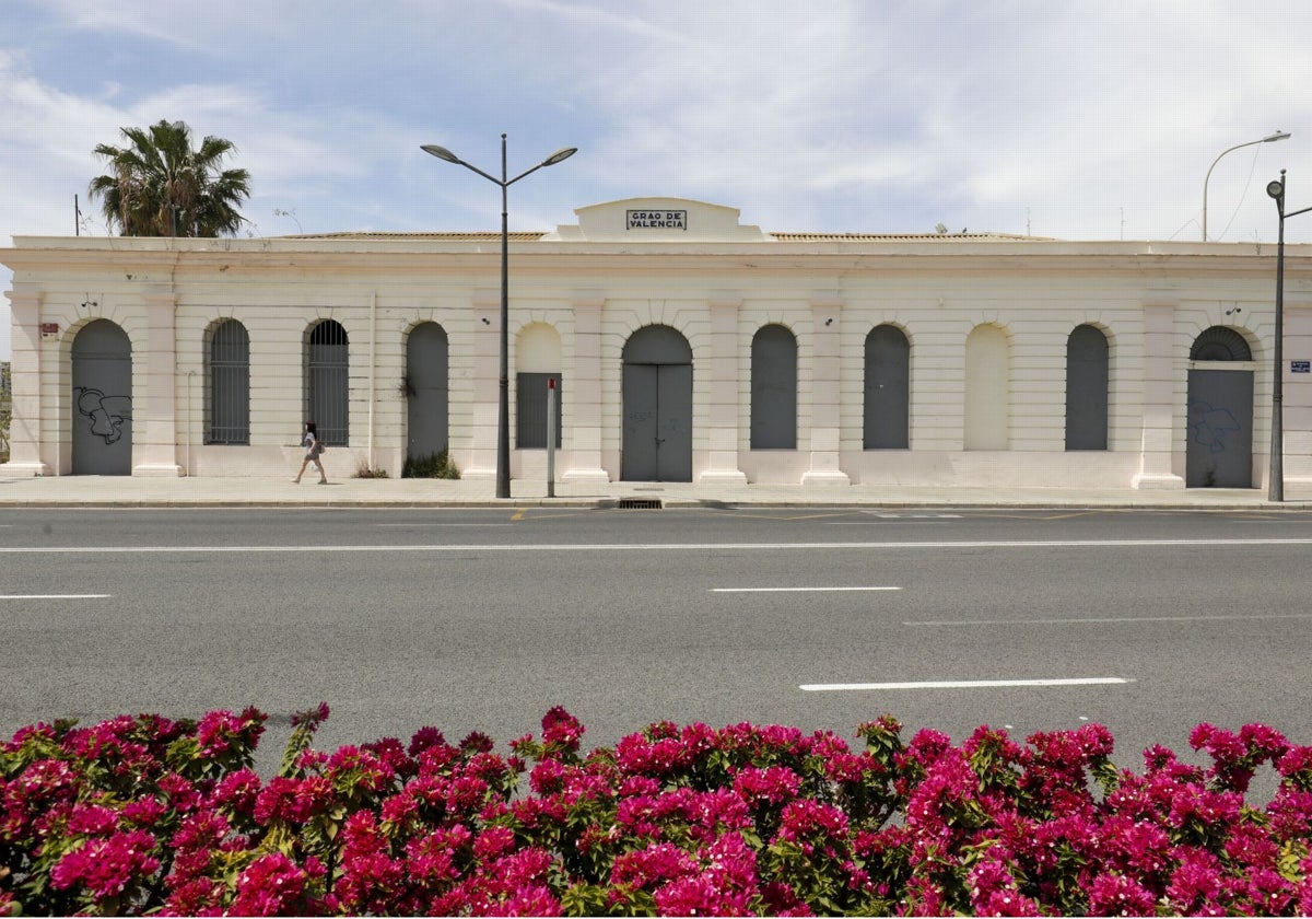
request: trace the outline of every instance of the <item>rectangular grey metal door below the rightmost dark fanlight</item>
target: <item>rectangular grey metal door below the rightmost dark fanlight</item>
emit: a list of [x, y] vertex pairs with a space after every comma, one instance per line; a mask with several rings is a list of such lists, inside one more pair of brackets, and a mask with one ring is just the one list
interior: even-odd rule
[[1189, 488], [1253, 487], [1253, 372], [1189, 372]]

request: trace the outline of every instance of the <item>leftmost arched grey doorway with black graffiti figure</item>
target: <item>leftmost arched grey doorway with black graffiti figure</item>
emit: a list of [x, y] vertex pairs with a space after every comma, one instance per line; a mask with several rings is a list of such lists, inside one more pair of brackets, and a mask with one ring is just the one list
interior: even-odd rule
[[109, 319], [83, 327], [72, 348], [72, 473], [133, 474], [133, 344]]

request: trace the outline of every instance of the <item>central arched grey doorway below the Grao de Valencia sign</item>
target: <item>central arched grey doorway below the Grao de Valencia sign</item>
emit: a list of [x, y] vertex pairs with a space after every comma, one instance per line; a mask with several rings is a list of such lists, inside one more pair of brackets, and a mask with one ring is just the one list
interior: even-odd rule
[[619, 478], [693, 481], [693, 349], [669, 326], [647, 326], [625, 344], [625, 431]]

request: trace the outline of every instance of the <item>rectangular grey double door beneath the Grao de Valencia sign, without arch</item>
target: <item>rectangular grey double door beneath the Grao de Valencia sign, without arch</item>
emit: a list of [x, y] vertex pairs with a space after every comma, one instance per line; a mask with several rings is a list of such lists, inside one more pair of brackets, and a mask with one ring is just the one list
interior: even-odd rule
[[626, 364], [619, 478], [693, 481], [693, 366]]

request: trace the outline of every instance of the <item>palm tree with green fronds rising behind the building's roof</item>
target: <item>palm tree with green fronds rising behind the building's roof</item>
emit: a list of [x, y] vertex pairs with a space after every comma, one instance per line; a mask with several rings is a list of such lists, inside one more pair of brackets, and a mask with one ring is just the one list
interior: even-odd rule
[[236, 150], [231, 140], [206, 137], [193, 150], [192, 129], [181, 121], [123, 127], [122, 134], [127, 146], [96, 146], [109, 173], [89, 186], [119, 235], [220, 236], [245, 222], [236, 207], [251, 196], [251, 173], [222, 168]]

